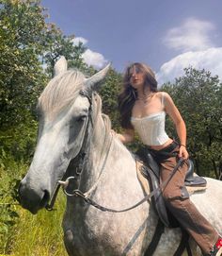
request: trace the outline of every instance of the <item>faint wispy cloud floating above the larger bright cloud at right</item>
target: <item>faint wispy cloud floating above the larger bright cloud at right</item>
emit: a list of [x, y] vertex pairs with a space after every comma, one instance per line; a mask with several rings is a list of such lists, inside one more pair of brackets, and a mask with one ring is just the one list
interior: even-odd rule
[[169, 48], [182, 52], [206, 50], [214, 47], [211, 40], [214, 29], [214, 24], [210, 22], [188, 18], [182, 26], [173, 27], [167, 31], [164, 43]]

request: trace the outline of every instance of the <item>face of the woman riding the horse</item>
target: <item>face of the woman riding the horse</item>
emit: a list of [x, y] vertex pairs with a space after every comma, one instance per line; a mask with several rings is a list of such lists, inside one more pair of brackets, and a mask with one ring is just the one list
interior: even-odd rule
[[144, 86], [144, 82], [145, 82], [145, 75], [144, 75], [143, 71], [139, 67], [133, 66], [130, 69], [129, 75], [130, 75], [131, 85], [135, 89], [140, 89], [140, 88], [142, 89]]

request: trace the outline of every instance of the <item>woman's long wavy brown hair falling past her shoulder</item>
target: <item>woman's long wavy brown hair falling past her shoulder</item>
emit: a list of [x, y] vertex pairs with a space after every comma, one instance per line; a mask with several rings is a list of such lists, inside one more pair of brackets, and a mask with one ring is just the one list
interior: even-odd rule
[[126, 68], [123, 77], [123, 89], [118, 97], [119, 112], [120, 112], [120, 125], [122, 128], [133, 128], [131, 124], [132, 110], [135, 105], [135, 100], [137, 99], [137, 92], [135, 88], [130, 84], [130, 78], [132, 76], [131, 70], [134, 68], [145, 75], [146, 87], [151, 88], [151, 92], [157, 92], [157, 81], [155, 79], [155, 74], [151, 68], [143, 63], [135, 62]]

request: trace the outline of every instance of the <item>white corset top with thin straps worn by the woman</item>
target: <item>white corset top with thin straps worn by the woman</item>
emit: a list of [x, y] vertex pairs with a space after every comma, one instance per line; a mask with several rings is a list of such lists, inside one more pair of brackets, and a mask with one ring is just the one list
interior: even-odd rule
[[131, 117], [131, 123], [145, 145], [164, 145], [169, 139], [165, 130], [166, 112], [159, 111], [148, 116]]

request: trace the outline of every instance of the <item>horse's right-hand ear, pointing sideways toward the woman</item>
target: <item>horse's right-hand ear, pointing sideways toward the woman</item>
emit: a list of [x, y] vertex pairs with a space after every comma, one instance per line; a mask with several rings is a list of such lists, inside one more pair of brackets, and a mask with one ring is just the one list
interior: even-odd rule
[[90, 90], [90, 91], [97, 91], [97, 90], [99, 90], [99, 88], [100, 88], [99, 82], [101, 82], [103, 80], [103, 78], [107, 74], [110, 66], [111, 66], [111, 63], [106, 65], [102, 70], [97, 72], [92, 77], [87, 78], [85, 80], [86, 89]]

